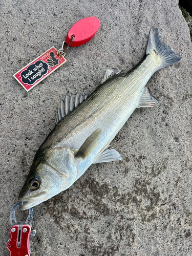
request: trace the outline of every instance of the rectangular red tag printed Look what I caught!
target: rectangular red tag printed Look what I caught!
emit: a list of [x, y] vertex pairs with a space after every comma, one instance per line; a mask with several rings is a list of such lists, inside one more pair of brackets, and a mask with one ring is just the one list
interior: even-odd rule
[[57, 55], [52, 47], [13, 76], [28, 92], [65, 62], [66, 59], [60, 53]]

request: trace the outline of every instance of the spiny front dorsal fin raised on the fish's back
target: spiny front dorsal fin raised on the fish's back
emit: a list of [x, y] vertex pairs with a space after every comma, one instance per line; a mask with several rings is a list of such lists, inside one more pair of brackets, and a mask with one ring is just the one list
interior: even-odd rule
[[57, 115], [55, 124], [57, 124], [63, 117], [68, 115], [71, 111], [73, 111], [78, 104], [80, 104], [83, 100], [87, 99], [90, 94], [85, 95], [73, 95], [70, 97], [66, 95], [65, 99], [61, 99], [60, 108], [57, 108]]

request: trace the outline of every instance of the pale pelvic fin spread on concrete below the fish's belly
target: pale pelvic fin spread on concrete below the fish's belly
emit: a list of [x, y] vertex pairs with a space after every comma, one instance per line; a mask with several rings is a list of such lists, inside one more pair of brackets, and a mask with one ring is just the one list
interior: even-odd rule
[[112, 162], [112, 161], [120, 161], [122, 160], [120, 154], [114, 150], [114, 148], [106, 147], [106, 149], [97, 156], [94, 163], [105, 163], [105, 162]]

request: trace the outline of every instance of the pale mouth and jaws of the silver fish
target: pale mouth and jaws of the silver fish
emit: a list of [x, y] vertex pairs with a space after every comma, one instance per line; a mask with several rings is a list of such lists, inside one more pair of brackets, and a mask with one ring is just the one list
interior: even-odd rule
[[21, 210], [27, 210], [31, 207], [34, 207], [44, 201], [48, 200], [48, 194], [46, 192], [42, 192], [40, 194], [38, 194], [37, 196], [34, 197], [23, 197], [23, 198], [19, 198], [19, 201], [23, 201], [24, 204], [20, 206]]

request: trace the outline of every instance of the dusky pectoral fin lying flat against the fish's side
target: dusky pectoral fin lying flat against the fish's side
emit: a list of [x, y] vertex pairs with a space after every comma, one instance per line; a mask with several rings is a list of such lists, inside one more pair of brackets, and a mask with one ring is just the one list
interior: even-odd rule
[[95, 130], [87, 140], [82, 144], [77, 152], [75, 158], [86, 158], [88, 157], [97, 147], [99, 139], [101, 137], [101, 129]]

